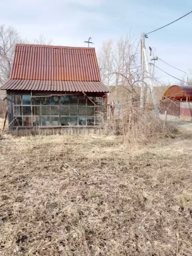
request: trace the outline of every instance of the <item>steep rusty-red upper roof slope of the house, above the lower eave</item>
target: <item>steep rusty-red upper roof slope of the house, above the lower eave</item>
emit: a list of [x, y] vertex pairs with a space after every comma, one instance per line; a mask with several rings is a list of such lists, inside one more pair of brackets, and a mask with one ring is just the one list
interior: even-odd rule
[[16, 44], [10, 79], [101, 81], [95, 48]]

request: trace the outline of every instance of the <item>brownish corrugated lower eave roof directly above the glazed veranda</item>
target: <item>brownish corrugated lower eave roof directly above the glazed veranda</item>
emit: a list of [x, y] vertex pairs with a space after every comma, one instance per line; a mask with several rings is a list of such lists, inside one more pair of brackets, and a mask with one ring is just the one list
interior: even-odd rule
[[71, 91], [71, 92], [108, 92], [106, 86], [98, 81], [50, 81], [9, 79], [2, 90], [39, 90], [39, 91]]

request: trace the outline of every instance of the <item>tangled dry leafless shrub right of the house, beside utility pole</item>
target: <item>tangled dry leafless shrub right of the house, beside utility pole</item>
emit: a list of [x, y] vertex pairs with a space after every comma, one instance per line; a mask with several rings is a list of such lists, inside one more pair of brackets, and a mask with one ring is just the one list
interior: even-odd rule
[[123, 135], [131, 143], [173, 138], [177, 133], [173, 123], [161, 120], [152, 110], [124, 111], [109, 118], [104, 129], [106, 134]]

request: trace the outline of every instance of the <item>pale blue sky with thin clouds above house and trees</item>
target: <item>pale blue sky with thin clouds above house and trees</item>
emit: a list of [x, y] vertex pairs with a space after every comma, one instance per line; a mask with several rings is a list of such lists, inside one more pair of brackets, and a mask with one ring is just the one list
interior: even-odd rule
[[[53, 45], [86, 46], [92, 37], [96, 51], [103, 41], [114, 42], [127, 33], [139, 40], [148, 33], [192, 10], [191, 0], [9, 0], [1, 1], [0, 24], [12, 25], [22, 38], [33, 40], [39, 34], [52, 38]], [[145, 45], [169, 64], [192, 77], [192, 14], [149, 34]], [[149, 55], [149, 50], [148, 50]], [[148, 56], [149, 57], [149, 56]], [[150, 58], [150, 57], [149, 57]], [[183, 78], [184, 73], [162, 61], [156, 65]], [[178, 81], [155, 69], [164, 83]]]

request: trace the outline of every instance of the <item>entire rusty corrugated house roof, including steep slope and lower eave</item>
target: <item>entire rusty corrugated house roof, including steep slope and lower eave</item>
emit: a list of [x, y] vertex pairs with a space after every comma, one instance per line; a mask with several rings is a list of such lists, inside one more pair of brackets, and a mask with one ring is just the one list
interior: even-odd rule
[[[66, 83], [68, 81], [73, 83]], [[92, 82], [90, 88], [89, 83], [84, 86], [85, 82]], [[67, 84], [73, 86], [67, 88]], [[48, 90], [46, 85], [55, 91], [77, 88], [78, 91], [108, 92], [100, 79], [95, 48], [16, 44], [10, 79], [1, 89]]]

